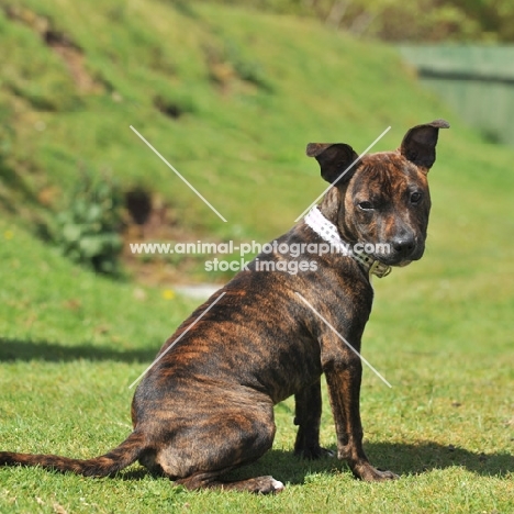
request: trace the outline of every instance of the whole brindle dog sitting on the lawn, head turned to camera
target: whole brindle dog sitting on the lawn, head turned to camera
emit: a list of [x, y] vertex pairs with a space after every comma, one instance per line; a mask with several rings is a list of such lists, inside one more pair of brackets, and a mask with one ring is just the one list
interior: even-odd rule
[[[398, 150], [357, 163], [346, 144], [308, 146], [322, 177], [333, 183], [321, 213], [343, 241], [389, 243], [389, 254], [368, 256], [382, 266], [404, 266], [422, 257], [431, 209], [426, 176], [435, 161], [438, 131], [448, 126], [444, 120], [415, 126]], [[305, 221], [276, 241], [323, 242]], [[260, 262], [305, 258], [258, 256]], [[362, 480], [395, 478], [371, 466], [362, 449], [359, 356], [297, 294], [360, 351], [373, 297], [369, 269], [334, 253], [316, 256], [316, 270], [290, 275], [257, 271], [254, 260], [198, 308], [166, 342], [163, 358], [138, 386], [132, 404], [134, 431], [118, 448], [90, 460], [2, 451], [0, 465], [104, 477], [138, 459], [188, 489], [276, 492], [283, 484], [272, 477], [233, 482], [222, 477], [271, 448], [273, 405], [292, 394], [299, 427], [294, 452], [305, 458], [326, 452], [320, 447], [320, 377], [325, 373], [338, 458]]]

